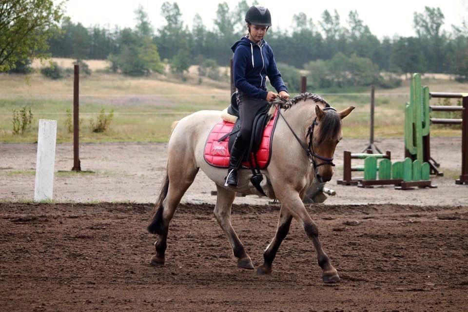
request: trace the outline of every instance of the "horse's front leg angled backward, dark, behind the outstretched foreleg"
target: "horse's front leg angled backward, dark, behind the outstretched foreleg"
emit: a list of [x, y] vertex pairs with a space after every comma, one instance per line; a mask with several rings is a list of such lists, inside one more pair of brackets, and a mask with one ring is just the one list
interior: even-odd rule
[[267, 249], [265, 249], [265, 253], [263, 254], [264, 261], [263, 264], [257, 268], [257, 274], [263, 275], [272, 272], [272, 263], [274, 257], [276, 256], [276, 252], [278, 251], [279, 245], [281, 245], [281, 242], [289, 232], [291, 221], [291, 213], [282, 205], [281, 211], [279, 212], [279, 220], [276, 233], [274, 234], [272, 242], [268, 245]]

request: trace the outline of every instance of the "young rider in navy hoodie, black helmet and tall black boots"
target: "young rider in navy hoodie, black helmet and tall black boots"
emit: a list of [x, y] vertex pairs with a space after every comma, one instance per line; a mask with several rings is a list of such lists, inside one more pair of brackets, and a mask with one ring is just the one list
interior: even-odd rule
[[[240, 131], [235, 137], [230, 151], [228, 174], [225, 186], [237, 186], [237, 170], [242, 162], [247, 145], [252, 135], [255, 116], [276, 97], [289, 99], [288, 88], [284, 85], [281, 74], [276, 68], [273, 50], [265, 41], [268, 28], [272, 25], [272, 16], [266, 7], [254, 5], [245, 15], [249, 34], [235, 42], [233, 72], [234, 85], [237, 88], [239, 105]], [[267, 91], [266, 76], [279, 93]]]

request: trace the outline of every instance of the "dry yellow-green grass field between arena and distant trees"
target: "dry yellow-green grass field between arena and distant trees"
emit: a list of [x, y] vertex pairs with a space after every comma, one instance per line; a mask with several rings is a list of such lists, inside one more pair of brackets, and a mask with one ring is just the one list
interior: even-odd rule
[[[101, 63], [93, 63], [91, 69], [101, 69]], [[431, 91], [468, 92], [468, 84], [447, 79], [426, 79], [423, 84]], [[353, 105], [356, 109], [344, 120], [344, 136], [365, 138], [369, 136], [370, 92], [331, 94], [327, 90], [311, 92], [321, 94], [332, 106], [343, 109]], [[404, 104], [409, 100], [409, 85], [405, 81], [396, 89], [376, 91], [375, 138], [402, 137]], [[226, 79], [205, 79], [187, 75], [187, 81], [176, 78], [130, 78], [117, 74], [93, 72], [80, 78], [80, 128], [82, 142], [98, 141], [166, 141], [173, 121], [202, 109], [224, 109], [229, 102], [229, 85]], [[437, 103], [436, 100], [433, 101]], [[455, 100], [452, 100], [456, 104]], [[30, 106], [34, 114], [31, 130], [23, 135], [13, 135], [13, 110]], [[66, 110], [73, 110], [73, 77], [61, 80], [32, 74], [0, 75], [0, 141], [34, 142], [37, 140], [39, 119], [58, 121], [58, 141], [72, 140], [65, 120]], [[104, 133], [93, 133], [90, 119], [96, 119], [101, 109], [114, 110], [111, 128]], [[438, 115], [440, 116], [440, 115]], [[431, 136], [460, 136], [458, 126], [438, 126], [431, 129]]]

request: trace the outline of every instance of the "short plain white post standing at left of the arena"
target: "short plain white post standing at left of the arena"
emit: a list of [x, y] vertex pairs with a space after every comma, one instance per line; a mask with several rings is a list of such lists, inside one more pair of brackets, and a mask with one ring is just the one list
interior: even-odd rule
[[57, 120], [39, 119], [34, 201], [52, 200]]

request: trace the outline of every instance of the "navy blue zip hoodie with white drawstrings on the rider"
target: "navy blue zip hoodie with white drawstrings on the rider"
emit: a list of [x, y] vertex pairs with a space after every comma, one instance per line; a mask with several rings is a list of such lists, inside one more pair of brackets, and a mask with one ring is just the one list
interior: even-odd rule
[[264, 39], [258, 45], [242, 37], [233, 44], [231, 50], [234, 52], [234, 85], [237, 89], [252, 98], [266, 99], [268, 92], [265, 91], [265, 81], [268, 76], [278, 93], [288, 90], [276, 68], [273, 50]]

